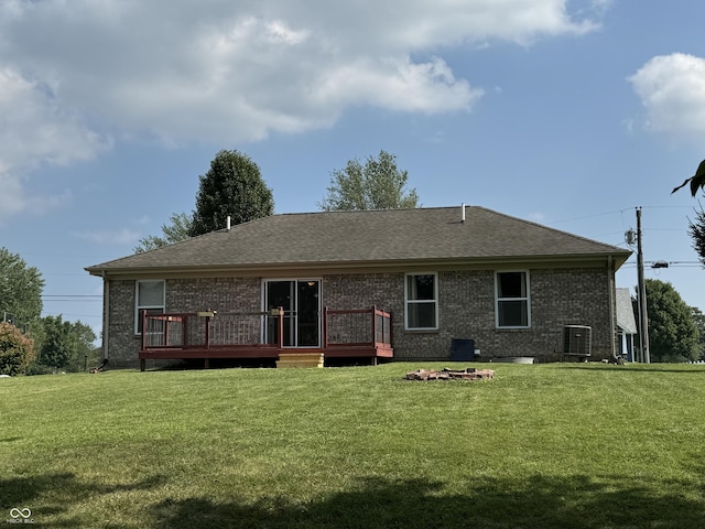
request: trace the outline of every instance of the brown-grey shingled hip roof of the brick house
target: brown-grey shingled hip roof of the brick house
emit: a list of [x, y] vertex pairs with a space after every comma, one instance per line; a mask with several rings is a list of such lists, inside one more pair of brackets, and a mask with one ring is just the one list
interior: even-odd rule
[[478, 206], [272, 215], [86, 268], [93, 274], [615, 259], [631, 252]]

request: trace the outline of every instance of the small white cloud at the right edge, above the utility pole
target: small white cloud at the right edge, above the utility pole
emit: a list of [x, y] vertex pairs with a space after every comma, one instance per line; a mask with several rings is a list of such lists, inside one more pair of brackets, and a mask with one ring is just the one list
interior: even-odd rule
[[648, 130], [702, 144], [705, 140], [705, 60], [659, 55], [629, 77], [647, 112]]

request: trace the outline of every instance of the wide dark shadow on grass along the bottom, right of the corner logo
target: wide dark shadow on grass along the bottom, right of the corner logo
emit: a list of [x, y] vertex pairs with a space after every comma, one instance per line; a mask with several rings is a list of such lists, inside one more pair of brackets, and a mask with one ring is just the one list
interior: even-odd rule
[[308, 504], [283, 497], [254, 504], [206, 497], [154, 506], [160, 528], [684, 528], [705, 526], [705, 506], [632, 479], [533, 476], [525, 481], [481, 478], [460, 493], [425, 479], [368, 478], [352, 490]]

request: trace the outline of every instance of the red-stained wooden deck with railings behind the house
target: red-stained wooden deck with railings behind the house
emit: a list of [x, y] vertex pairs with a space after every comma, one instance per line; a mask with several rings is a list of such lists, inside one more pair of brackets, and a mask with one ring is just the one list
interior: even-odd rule
[[[391, 314], [375, 306], [324, 309], [319, 346], [290, 347], [284, 311], [256, 313], [142, 314], [140, 367], [148, 359], [280, 359], [280, 355], [323, 354], [325, 358], [393, 358]], [[268, 342], [265, 338], [269, 337]], [[315, 339], [315, 338], [314, 338]]]

